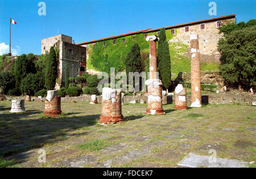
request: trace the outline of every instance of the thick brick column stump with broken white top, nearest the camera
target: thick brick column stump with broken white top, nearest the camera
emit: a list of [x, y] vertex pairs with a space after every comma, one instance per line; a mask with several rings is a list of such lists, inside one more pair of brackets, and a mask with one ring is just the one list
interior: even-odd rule
[[102, 89], [101, 116], [99, 123], [109, 124], [123, 122], [121, 92], [121, 89]]

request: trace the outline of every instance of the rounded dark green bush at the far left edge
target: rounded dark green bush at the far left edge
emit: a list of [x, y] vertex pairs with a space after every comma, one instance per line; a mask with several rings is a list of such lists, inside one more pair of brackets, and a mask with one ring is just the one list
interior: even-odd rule
[[0, 73], [0, 91], [1, 93], [7, 95], [7, 92], [15, 88], [15, 76], [10, 72]]

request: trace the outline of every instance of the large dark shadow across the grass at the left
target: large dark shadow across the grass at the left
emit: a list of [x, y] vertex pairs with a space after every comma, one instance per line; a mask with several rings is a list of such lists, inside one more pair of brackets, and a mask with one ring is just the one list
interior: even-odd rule
[[[0, 156], [22, 163], [30, 156], [31, 149], [61, 142], [70, 137], [88, 135], [91, 132], [89, 126], [97, 125], [100, 118], [100, 114], [71, 116], [79, 113], [61, 114], [63, 116], [56, 118], [34, 118], [41, 114], [41, 110], [0, 114]], [[75, 130], [79, 130], [79, 133], [72, 133]]]

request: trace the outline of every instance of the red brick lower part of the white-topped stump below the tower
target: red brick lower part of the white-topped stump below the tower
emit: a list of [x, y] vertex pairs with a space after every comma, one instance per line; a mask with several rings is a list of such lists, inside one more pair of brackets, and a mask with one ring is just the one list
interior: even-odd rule
[[57, 117], [61, 114], [61, 98], [55, 96], [51, 101], [46, 99], [44, 103], [44, 115]]

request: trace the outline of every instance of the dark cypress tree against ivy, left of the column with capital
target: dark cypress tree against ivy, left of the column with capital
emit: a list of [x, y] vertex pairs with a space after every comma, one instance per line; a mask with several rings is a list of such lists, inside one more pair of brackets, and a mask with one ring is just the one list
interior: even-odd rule
[[[131, 46], [130, 52], [127, 54], [126, 60], [125, 60], [125, 70], [126, 70], [127, 78], [129, 78], [129, 72], [141, 73], [142, 71], [141, 62], [142, 62], [142, 58], [141, 58], [141, 52], [139, 49], [139, 44], [135, 43], [133, 46]], [[135, 87], [135, 80], [133, 79], [133, 88], [134, 87]], [[134, 88], [134, 95], [135, 95], [135, 88]]]

